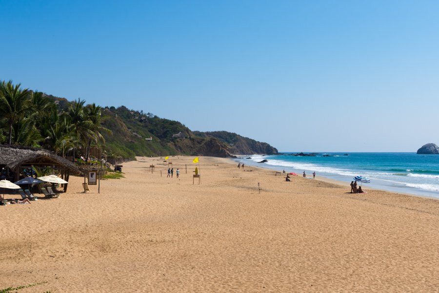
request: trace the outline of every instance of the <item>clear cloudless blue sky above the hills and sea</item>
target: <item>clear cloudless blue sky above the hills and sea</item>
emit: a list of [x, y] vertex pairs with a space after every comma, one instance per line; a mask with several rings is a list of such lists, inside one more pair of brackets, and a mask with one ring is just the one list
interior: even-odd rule
[[280, 151], [439, 144], [439, 1], [5, 1], [0, 80]]

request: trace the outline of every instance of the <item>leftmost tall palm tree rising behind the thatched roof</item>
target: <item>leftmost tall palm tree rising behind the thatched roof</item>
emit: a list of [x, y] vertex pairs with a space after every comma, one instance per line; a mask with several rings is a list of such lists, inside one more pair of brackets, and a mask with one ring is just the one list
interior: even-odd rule
[[12, 144], [12, 126], [31, 108], [28, 88], [21, 89], [21, 84], [14, 86], [12, 81], [0, 84], [0, 114], [9, 126], [8, 144]]

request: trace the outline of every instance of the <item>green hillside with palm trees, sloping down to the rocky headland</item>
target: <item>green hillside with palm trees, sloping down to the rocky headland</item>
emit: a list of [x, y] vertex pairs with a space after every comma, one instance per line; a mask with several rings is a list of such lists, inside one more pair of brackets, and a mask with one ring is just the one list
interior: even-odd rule
[[277, 153], [268, 144], [226, 131], [191, 131], [178, 121], [125, 106], [101, 108], [84, 100], [0, 82], [0, 144], [36, 146], [60, 156], [89, 157], [94, 146], [107, 158], [231, 153]]

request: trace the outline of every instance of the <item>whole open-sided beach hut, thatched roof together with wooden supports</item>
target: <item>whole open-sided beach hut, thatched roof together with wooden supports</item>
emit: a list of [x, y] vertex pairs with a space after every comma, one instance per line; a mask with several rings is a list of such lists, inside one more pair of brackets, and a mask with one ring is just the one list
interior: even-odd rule
[[[69, 160], [66, 160], [46, 149], [29, 146], [0, 145], [0, 168], [7, 174], [14, 174], [14, 181], [20, 179], [20, 170], [24, 167], [46, 167], [57, 169], [65, 181], [69, 181], [70, 174], [79, 175], [80, 169]], [[64, 185], [64, 192], [67, 184]]]

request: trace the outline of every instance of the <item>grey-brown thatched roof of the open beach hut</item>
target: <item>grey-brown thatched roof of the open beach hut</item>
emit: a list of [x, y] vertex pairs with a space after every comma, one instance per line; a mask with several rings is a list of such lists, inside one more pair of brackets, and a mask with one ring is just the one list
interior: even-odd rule
[[69, 169], [74, 174], [79, 174], [80, 169], [72, 162], [43, 148], [29, 146], [0, 145], [0, 165], [11, 169], [20, 165], [46, 164], [61, 166]]

